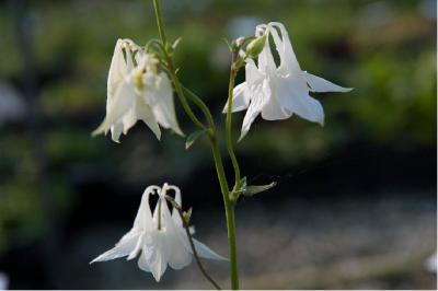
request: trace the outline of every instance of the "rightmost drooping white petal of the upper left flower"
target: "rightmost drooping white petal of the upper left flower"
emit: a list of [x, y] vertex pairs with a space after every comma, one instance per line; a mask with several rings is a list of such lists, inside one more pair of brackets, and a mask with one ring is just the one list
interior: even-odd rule
[[[162, 127], [166, 129], [171, 128], [177, 135], [184, 136], [176, 121], [172, 83], [169, 80], [169, 77], [161, 72], [159, 75], [155, 75], [155, 78], [152, 79], [152, 82], [154, 90], [147, 94], [146, 102], [151, 106], [158, 123]], [[148, 92], [148, 83], [149, 82], [147, 81], [146, 92]]]

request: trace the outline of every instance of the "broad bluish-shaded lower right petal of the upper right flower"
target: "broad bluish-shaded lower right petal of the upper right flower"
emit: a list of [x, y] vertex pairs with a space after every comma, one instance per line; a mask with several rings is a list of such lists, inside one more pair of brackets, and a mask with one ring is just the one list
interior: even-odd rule
[[321, 103], [309, 96], [301, 80], [286, 78], [278, 82], [278, 100], [285, 108], [313, 123], [324, 125], [324, 109]]

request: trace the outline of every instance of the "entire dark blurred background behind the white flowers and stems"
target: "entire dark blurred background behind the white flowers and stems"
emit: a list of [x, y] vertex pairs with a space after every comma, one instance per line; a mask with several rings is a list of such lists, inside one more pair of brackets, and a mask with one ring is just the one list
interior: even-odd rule
[[[355, 88], [316, 96], [323, 128], [258, 118], [235, 147], [250, 182], [278, 182], [238, 206], [242, 286], [435, 288], [425, 260], [437, 244], [436, 1], [163, 0], [162, 9], [169, 37], [183, 37], [181, 79], [220, 126], [230, 61], [221, 37], [252, 35], [260, 23], [285, 23], [303, 70]], [[90, 136], [105, 114], [116, 39], [158, 37], [151, 1], [0, 1], [0, 28], [9, 288], [209, 288], [195, 264], [161, 283], [135, 261], [88, 264], [129, 230], [143, 188], [163, 182], [194, 207], [196, 237], [227, 255], [206, 141], [186, 151], [182, 138], [166, 131], [158, 142], [140, 123], [120, 144]], [[177, 113], [192, 132], [178, 103]], [[226, 286], [228, 264], [205, 264]]]

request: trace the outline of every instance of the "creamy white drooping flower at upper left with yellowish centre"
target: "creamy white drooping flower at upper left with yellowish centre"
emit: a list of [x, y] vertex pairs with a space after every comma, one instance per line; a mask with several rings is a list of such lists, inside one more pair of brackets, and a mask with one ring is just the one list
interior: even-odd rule
[[[125, 51], [125, 56], [124, 56]], [[137, 120], [143, 120], [158, 139], [160, 126], [184, 136], [176, 121], [172, 84], [158, 68], [159, 60], [130, 39], [118, 39], [111, 61], [106, 117], [93, 136], [107, 133], [119, 142]]]

